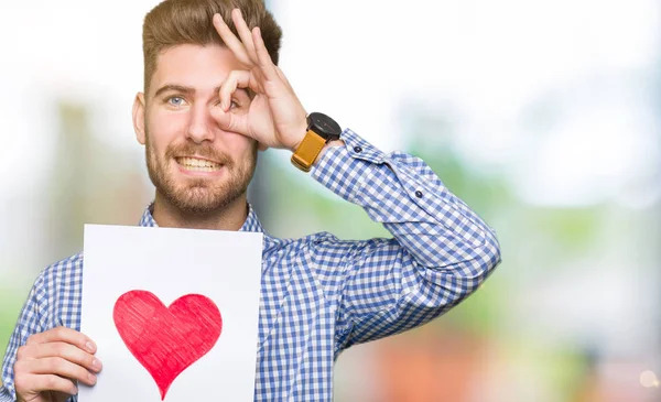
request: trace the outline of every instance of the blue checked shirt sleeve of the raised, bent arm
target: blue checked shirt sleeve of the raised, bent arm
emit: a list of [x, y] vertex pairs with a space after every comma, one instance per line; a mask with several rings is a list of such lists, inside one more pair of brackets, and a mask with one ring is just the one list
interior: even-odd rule
[[422, 160], [386, 154], [348, 129], [342, 139], [345, 145], [328, 148], [312, 176], [393, 238], [350, 243], [333, 292], [336, 351], [440, 316], [500, 262], [494, 230]]

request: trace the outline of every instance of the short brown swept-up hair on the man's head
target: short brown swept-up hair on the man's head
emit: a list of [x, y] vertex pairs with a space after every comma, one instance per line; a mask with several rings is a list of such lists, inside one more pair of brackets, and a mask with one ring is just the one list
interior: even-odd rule
[[214, 28], [214, 14], [220, 14], [239, 37], [231, 21], [231, 10], [236, 8], [241, 10], [248, 28], [260, 28], [269, 55], [278, 64], [282, 30], [263, 0], [165, 0], [147, 14], [142, 25], [144, 93], [149, 90], [162, 51], [182, 44], [225, 45]]

